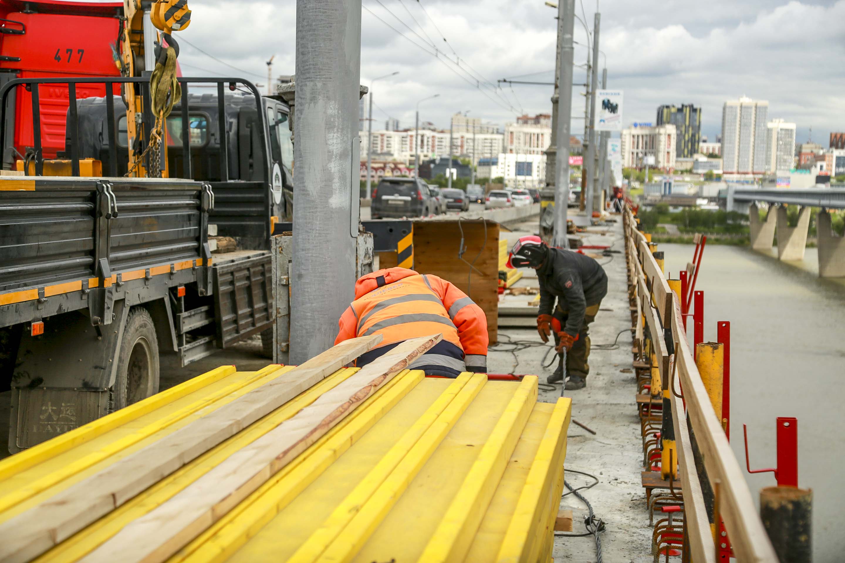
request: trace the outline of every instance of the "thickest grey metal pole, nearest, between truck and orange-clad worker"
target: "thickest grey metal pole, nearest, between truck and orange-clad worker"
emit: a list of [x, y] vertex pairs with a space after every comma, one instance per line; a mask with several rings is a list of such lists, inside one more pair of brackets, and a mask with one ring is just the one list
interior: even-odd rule
[[290, 361], [301, 364], [334, 344], [355, 298], [361, 0], [297, 0], [296, 68]]

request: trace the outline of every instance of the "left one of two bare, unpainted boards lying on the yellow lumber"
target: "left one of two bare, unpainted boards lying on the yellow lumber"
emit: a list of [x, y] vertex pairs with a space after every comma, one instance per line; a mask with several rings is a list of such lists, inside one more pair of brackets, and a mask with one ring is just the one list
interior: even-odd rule
[[278, 409], [380, 341], [380, 335], [373, 335], [338, 344], [3, 522], [0, 538], [5, 540], [0, 542], [0, 560], [30, 560], [68, 539], [159, 479]]

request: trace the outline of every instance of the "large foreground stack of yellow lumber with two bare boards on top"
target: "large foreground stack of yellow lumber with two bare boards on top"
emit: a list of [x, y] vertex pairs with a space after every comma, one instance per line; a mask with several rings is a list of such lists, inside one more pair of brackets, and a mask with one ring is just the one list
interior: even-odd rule
[[570, 400], [406, 369], [438, 339], [223, 366], [9, 457], [0, 560], [548, 560]]

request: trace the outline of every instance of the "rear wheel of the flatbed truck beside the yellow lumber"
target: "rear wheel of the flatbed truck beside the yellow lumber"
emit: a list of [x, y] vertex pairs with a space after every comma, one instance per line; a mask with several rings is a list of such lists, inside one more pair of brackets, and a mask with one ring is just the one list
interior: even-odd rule
[[155, 325], [144, 307], [133, 307], [117, 355], [112, 409], [123, 409], [158, 392], [159, 357]]

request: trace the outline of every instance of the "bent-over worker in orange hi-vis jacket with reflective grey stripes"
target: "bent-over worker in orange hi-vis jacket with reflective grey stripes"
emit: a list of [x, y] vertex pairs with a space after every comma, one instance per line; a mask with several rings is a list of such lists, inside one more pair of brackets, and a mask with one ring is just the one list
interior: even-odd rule
[[381, 334], [378, 348], [357, 360], [367, 365], [408, 338], [443, 333], [443, 339], [411, 365], [428, 376], [457, 377], [462, 371], [487, 372], [487, 317], [481, 307], [450, 282], [407, 268], [386, 268], [362, 276], [355, 300], [339, 322], [339, 344]]

